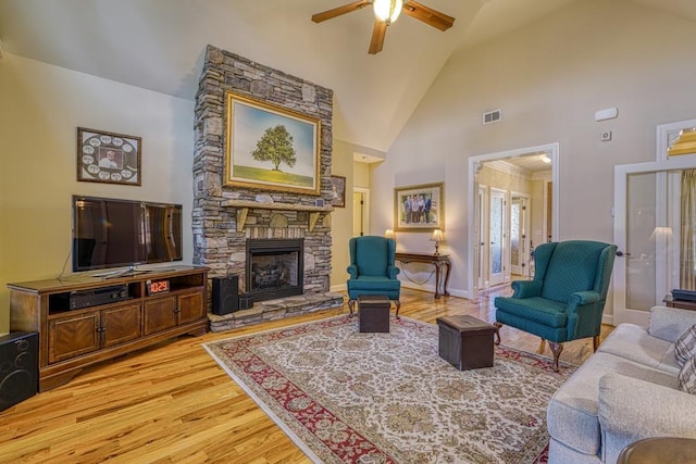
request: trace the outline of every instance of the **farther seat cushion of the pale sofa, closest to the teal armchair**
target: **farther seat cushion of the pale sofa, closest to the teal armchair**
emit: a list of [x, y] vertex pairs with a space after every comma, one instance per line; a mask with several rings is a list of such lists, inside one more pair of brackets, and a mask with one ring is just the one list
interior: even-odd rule
[[617, 326], [601, 342], [599, 351], [625, 358], [673, 376], [676, 376], [681, 369], [674, 355], [674, 343], [651, 337], [645, 327], [635, 324]]

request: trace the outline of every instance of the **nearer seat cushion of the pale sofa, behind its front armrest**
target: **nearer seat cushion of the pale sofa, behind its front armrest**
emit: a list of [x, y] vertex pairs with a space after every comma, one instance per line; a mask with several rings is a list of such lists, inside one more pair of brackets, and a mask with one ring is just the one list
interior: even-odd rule
[[554, 439], [584, 454], [594, 455], [599, 452], [599, 378], [607, 373], [619, 373], [664, 387], [679, 388], [675, 375], [598, 351], [551, 398], [547, 425]]

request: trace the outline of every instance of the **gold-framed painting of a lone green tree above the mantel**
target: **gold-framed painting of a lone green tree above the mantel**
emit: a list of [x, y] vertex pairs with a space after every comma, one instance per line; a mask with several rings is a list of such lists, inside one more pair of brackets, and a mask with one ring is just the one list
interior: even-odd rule
[[225, 185], [319, 195], [318, 118], [226, 93]]

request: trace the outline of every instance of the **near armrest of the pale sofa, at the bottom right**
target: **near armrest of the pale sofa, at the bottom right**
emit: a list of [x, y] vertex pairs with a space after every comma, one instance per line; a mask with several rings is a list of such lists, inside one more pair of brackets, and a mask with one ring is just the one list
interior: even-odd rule
[[681, 390], [608, 373], [599, 379], [597, 407], [610, 454], [643, 438], [696, 438], [696, 396]]

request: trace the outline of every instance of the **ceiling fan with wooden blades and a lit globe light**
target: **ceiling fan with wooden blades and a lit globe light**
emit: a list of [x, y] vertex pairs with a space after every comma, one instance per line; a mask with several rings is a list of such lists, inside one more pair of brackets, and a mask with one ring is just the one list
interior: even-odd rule
[[375, 54], [382, 51], [384, 38], [387, 34], [387, 26], [394, 23], [401, 12], [415, 17], [423, 23], [436, 27], [439, 30], [447, 30], [452, 27], [455, 18], [440, 13], [439, 11], [427, 8], [414, 0], [358, 0], [343, 7], [326, 10], [312, 15], [314, 23], [321, 23], [341, 14], [358, 11], [363, 7], [372, 5], [374, 10], [374, 29], [372, 30], [372, 40], [370, 41], [369, 53]]

